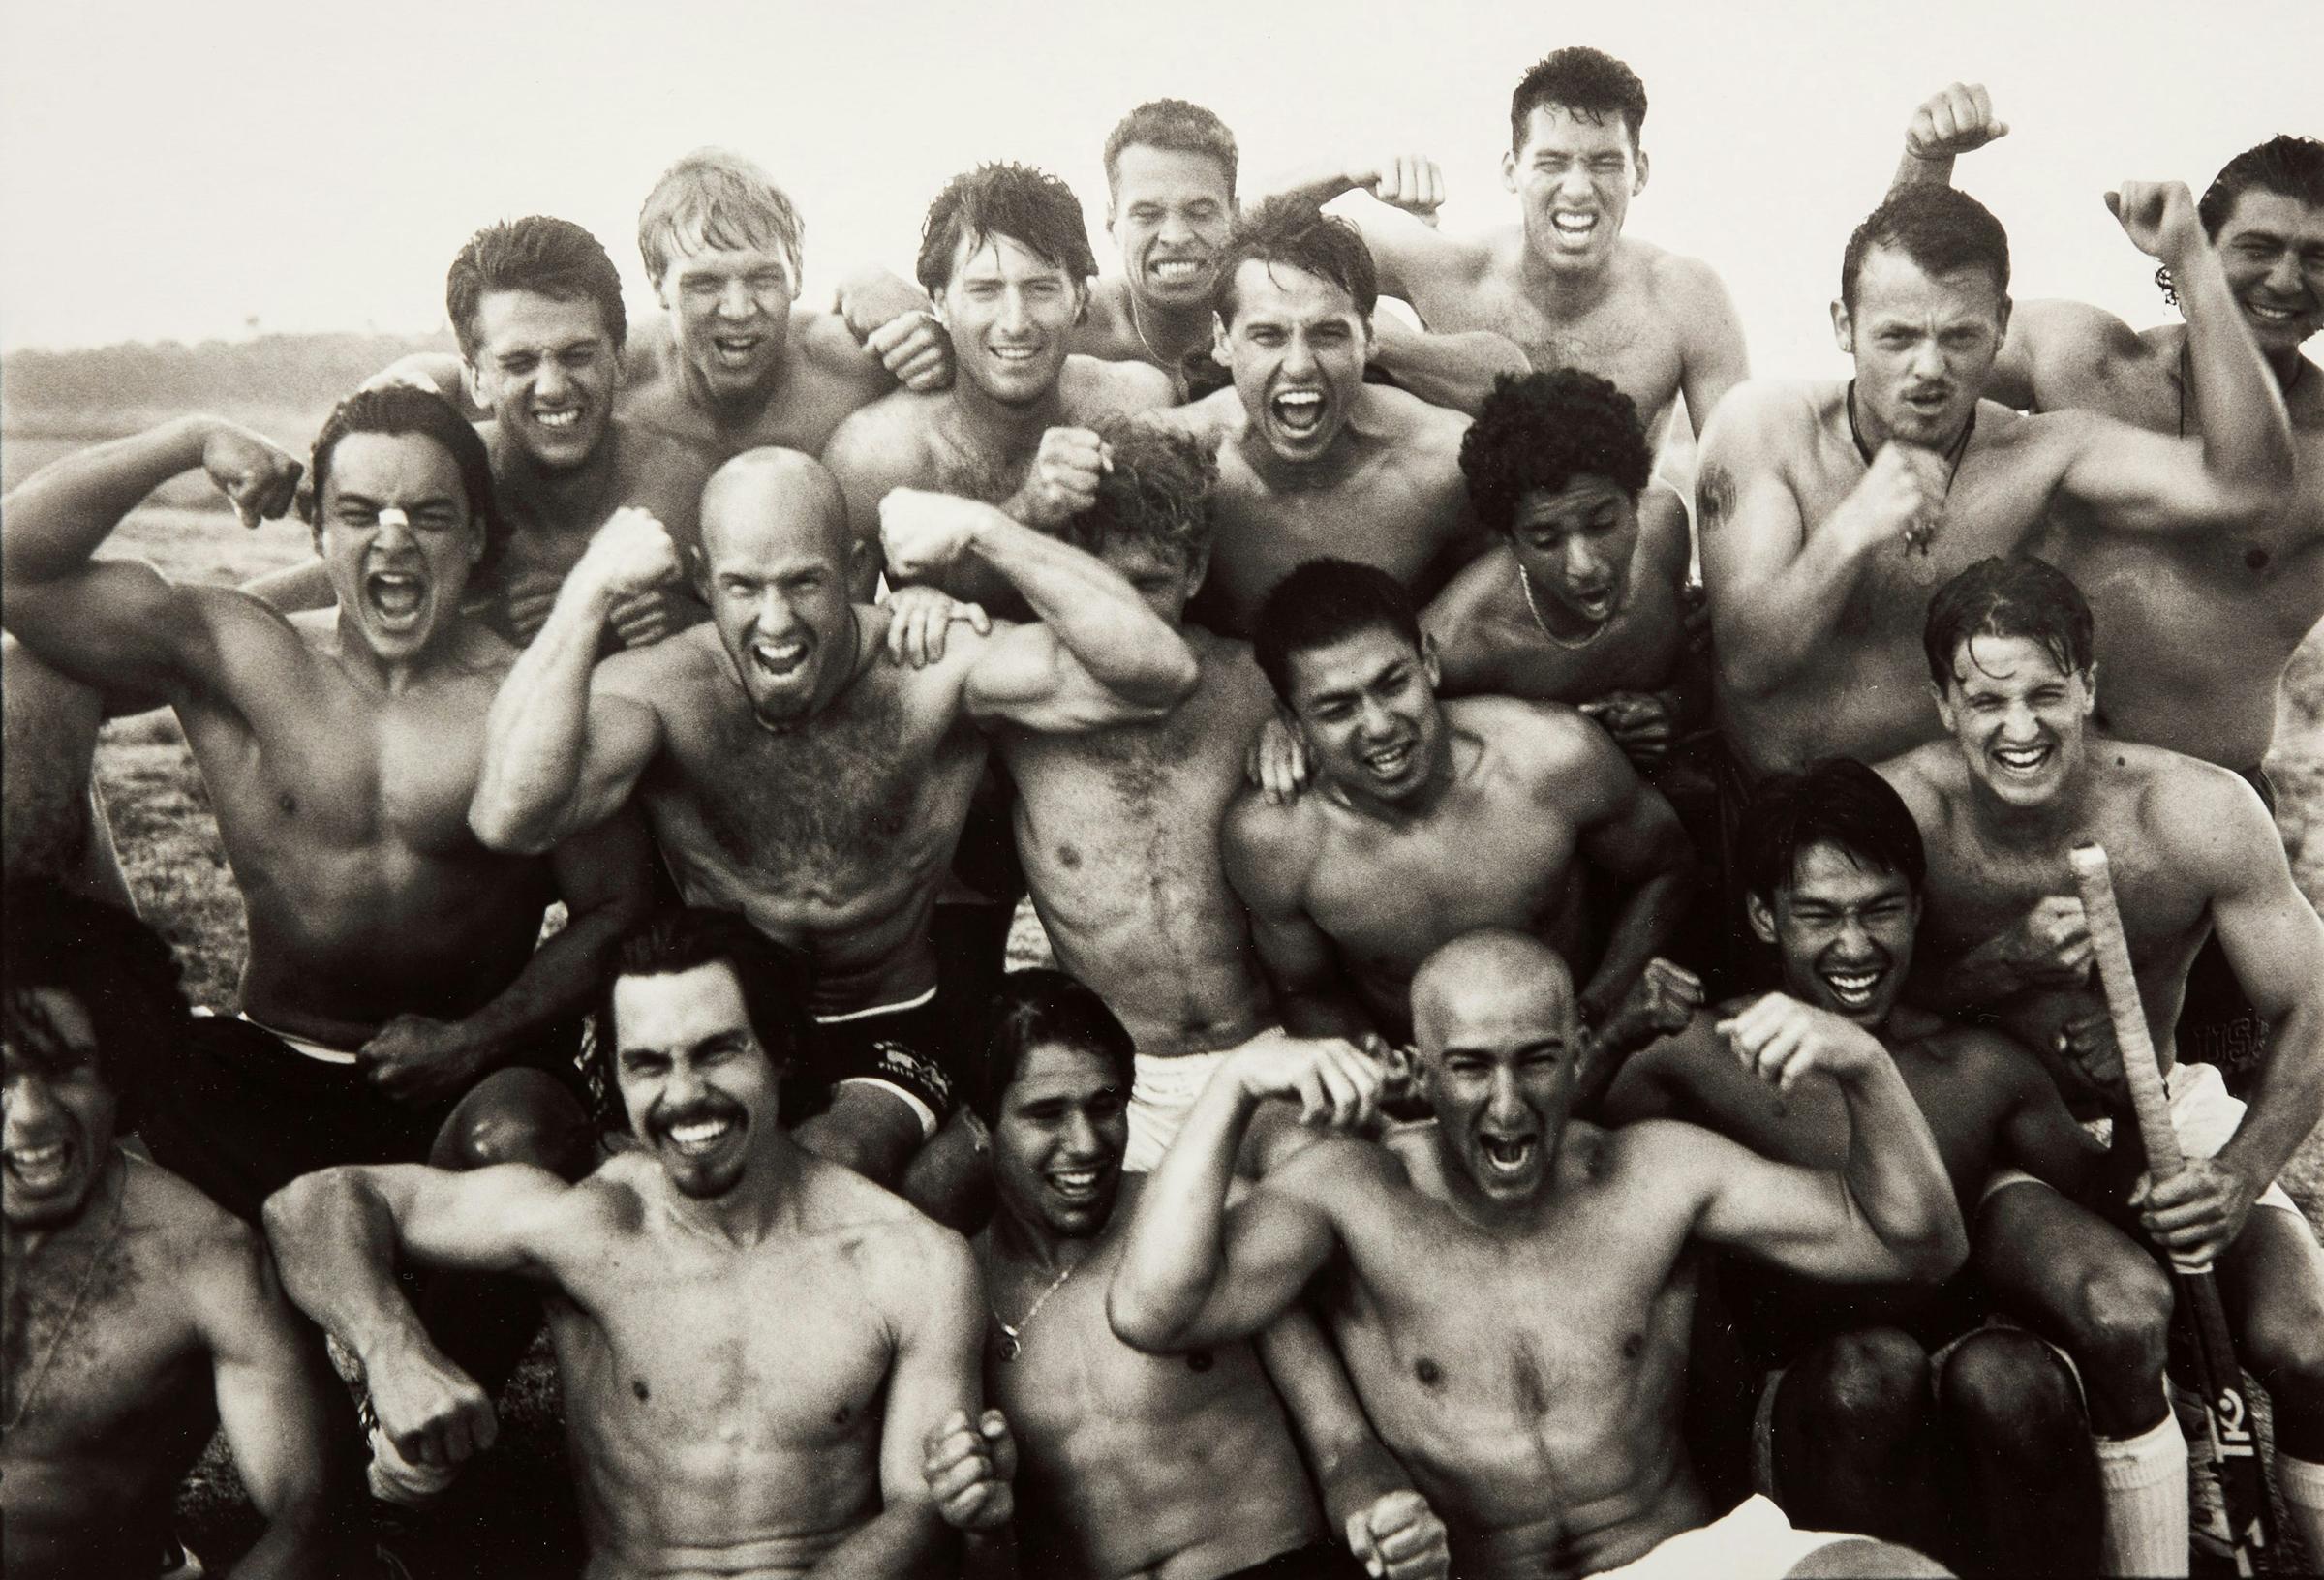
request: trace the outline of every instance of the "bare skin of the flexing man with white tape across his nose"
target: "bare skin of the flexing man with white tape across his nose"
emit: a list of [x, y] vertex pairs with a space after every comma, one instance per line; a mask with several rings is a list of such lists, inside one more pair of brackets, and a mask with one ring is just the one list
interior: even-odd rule
[[[644, 832], [627, 820], [576, 832], [548, 860], [493, 853], [469, 834], [483, 716], [516, 658], [474, 618], [437, 609], [404, 653], [409, 639], [372, 634], [363, 611], [293, 620], [232, 588], [88, 560], [144, 493], [198, 465], [237, 490], [253, 476], [281, 481], [277, 509], [297, 472], [214, 418], [44, 469], [7, 502], [9, 627], [84, 683], [177, 709], [249, 915], [249, 1015], [332, 1048], [421, 1022], [435, 1057], [488, 1073], [590, 997], [597, 950], [646, 895]], [[358, 483], [414, 511], [460, 497], [435, 441], [349, 435], [323, 502], [325, 544], [344, 534], [390, 553], [386, 525], [330, 518]], [[418, 555], [416, 537], [402, 530], [393, 553]], [[449, 590], [437, 574], [423, 597], [435, 609]], [[572, 925], [535, 953], [558, 897]]]

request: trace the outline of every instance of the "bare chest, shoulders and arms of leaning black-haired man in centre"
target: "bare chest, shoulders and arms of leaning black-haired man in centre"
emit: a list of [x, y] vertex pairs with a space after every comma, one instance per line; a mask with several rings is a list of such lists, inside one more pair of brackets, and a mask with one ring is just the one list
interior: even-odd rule
[[[1687, 839], [1606, 732], [1557, 704], [1469, 697], [1443, 704], [1443, 734], [1429, 804], [1357, 806], [1322, 783], [1283, 806], [1246, 788], [1227, 809], [1227, 878], [1292, 1032], [1406, 1041], [1413, 971], [1478, 927], [1585, 962], [1597, 1025], [1676, 922]], [[1627, 895], [1606, 936], [1585, 867]]]

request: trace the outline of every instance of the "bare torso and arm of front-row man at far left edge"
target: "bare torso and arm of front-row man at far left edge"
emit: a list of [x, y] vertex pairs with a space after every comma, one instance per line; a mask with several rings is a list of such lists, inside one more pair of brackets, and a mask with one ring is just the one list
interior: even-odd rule
[[332, 1534], [356, 1482], [346, 1389], [253, 1229], [112, 1150], [77, 1220], [9, 1229], [5, 1273], [9, 1575], [153, 1573], [179, 1482], [221, 1424], [270, 1522], [232, 1573], [349, 1573]]

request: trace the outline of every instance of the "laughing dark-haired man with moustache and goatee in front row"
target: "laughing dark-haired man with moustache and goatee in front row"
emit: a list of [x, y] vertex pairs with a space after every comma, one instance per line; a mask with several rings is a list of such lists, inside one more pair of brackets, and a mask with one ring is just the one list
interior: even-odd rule
[[783, 1132], [776, 1078], [813, 1032], [774, 955], [720, 911], [621, 943], [604, 1043], [634, 1146], [579, 1185], [370, 1166], [267, 1201], [284, 1287], [423, 1464], [458, 1464], [495, 1420], [397, 1262], [546, 1292], [590, 1580], [955, 1573], [920, 1441], [976, 1413], [976, 1266]]

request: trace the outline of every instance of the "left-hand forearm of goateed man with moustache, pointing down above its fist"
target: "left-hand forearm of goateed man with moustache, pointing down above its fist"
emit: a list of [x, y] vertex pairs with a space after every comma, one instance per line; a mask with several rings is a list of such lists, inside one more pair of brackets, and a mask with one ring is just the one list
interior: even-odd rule
[[284, 1294], [358, 1357], [423, 1336], [395, 1280], [395, 1215], [360, 1169], [290, 1180], [265, 1204]]

